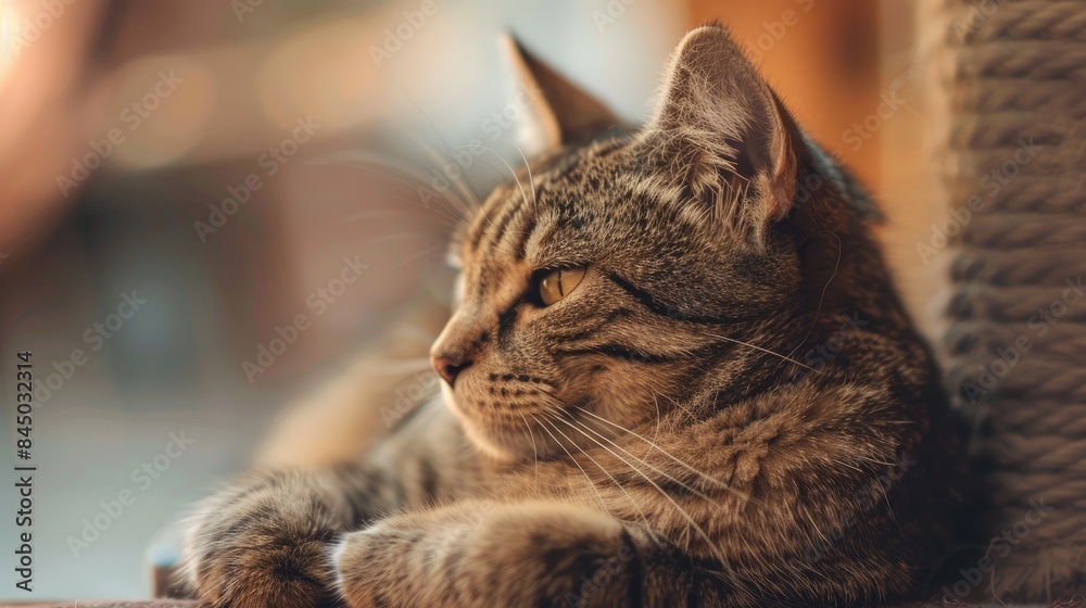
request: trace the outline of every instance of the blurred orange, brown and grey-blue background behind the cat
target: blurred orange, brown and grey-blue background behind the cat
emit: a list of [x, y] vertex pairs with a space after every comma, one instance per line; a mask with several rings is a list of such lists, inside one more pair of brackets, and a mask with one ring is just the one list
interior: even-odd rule
[[[435, 157], [468, 159], [480, 197], [521, 162], [502, 31], [637, 122], [673, 46], [714, 18], [875, 193], [931, 318], [912, 2], [0, 0], [4, 463], [16, 352], [38, 405], [35, 592], [4, 566], [0, 601], [146, 596], [152, 537], [269, 432], [336, 433], [292, 427], [288, 404], [447, 290], [457, 211], [426, 189]], [[10, 466], [0, 482], [10, 512]], [[0, 519], [0, 546], [15, 536]]]

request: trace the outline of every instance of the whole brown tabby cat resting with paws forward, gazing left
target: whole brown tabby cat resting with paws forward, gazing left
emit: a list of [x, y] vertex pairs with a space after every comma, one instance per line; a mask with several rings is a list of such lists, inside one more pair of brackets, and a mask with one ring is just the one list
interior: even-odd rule
[[961, 441], [877, 212], [722, 26], [628, 128], [514, 47], [551, 150], [452, 246], [442, 398], [205, 501], [211, 606], [860, 606], [952, 542]]

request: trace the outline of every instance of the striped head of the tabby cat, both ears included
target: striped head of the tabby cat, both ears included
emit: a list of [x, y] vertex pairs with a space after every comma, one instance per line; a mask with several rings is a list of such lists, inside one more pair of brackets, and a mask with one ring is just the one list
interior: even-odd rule
[[431, 355], [469, 436], [558, 455], [592, 444], [573, 426], [614, 435], [759, 365], [787, 371], [779, 350], [828, 266], [804, 259], [812, 218], [847, 215], [845, 195], [821, 174], [810, 191], [831, 165], [727, 30], [682, 40], [635, 130], [514, 50], [552, 149], [454, 243], [458, 306]]

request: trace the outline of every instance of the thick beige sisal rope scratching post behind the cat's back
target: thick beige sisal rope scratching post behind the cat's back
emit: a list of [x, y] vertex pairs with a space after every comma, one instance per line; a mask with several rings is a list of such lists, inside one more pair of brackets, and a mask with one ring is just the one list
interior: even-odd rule
[[934, 1], [947, 372], [990, 485], [987, 536], [1006, 539], [976, 591], [1071, 598], [1086, 593], [1086, 0]]

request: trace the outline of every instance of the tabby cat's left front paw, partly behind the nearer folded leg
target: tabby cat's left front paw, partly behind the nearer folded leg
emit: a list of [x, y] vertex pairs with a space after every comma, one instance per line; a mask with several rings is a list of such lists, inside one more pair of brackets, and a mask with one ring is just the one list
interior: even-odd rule
[[251, 476], [200, 505], [186, 530], [185, 585], [215, 607], [337, 605], [329, 547], [342, 529], [302, 472]]

